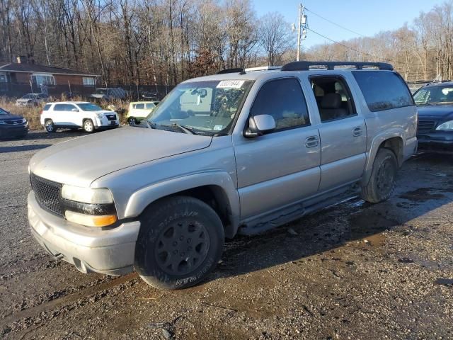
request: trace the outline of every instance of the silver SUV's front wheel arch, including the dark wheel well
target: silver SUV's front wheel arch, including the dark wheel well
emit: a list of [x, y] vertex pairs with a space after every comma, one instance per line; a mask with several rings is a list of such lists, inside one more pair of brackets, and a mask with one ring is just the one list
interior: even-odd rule
[[125, 218], [137, 217], [162, 198], [190, 196], [210, 205], [224, 225], [225, 236], [234, 237], [239, 227], [239, 194], [226, 172], [193, 174], [155, 183], [136, 191], [130, 197]]

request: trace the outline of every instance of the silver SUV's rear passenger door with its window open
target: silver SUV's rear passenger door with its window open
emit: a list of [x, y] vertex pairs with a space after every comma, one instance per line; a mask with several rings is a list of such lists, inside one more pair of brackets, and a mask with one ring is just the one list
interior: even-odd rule
[[344, 77], [314, 75], [309, 81], [321, 118], [319, 191], [323, 192], [362, 177], [367, 158], [367, 128]]

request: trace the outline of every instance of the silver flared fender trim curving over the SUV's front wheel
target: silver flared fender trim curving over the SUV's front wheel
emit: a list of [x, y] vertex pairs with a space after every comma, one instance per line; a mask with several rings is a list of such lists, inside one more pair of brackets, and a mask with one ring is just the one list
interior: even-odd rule
[[228, 200], [227, 204], [231, 217], [231, 225], [226, 226], [225, 234], [227, 237], [233, 237], [239, 227], [241, 208], [235, 183], [226, 171], [205, 171], [145, 186], [130, 196], [126, 205], [125, 218], [140, 215], [149, 204], [159, 200], [159, 198], [199, 186], [217, 186], [222, 189]]

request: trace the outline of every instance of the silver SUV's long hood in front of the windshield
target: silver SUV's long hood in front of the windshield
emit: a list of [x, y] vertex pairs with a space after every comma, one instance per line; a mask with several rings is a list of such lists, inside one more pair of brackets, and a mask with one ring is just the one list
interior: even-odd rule
[[42, 149], [30, 171], [44, 179], [74, 186], [113, 171], [209, 147], [210, 136], [125, 127], [74, 138]]

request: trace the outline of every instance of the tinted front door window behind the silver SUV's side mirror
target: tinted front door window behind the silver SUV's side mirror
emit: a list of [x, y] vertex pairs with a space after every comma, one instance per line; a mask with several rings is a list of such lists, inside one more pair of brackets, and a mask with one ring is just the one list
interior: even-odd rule
[[297, 79], [278, 79], [265, 83], [256, 95], [251, 115], [272, 115], [276, 130], [310, 123], [304, 94]]

